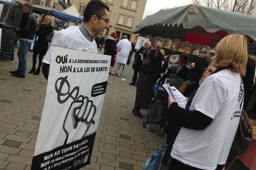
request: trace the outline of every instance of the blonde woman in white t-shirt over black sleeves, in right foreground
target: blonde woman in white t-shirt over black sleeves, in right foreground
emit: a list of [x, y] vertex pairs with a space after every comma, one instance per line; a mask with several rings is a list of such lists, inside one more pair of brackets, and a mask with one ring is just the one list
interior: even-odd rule
[[217, 68], [195, 94], [189, 110], [169, 96], [168, 121], [181, 125], [172, 147], [172, 170], [221, 170], [226, 163], [241, 116], [247, 39], [233, 34], [216, 46]]

